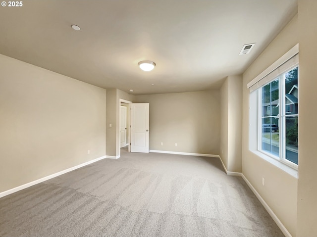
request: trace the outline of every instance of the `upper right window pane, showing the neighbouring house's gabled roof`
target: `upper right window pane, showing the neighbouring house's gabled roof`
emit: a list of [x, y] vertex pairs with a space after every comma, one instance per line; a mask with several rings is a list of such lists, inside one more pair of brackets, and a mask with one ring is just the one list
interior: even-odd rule
[[285, 112], [298, 113], [298, 67], [285, 74]]

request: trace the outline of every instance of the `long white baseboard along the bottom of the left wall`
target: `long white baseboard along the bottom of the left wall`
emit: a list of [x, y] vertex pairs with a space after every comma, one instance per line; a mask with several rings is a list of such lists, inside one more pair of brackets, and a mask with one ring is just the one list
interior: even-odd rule
[[97, 159], [94, 159], [94, 160], [87, 161], [87, 162], [82, 163], [82, 164], [80, 164], [80, 165], [76, 165], [76, 166], [74, 166], [74, 167], [71, 167], [71, 168], [68, 168], [68, 169], [59, 171], [59, 172], [57, 172], [57, 173], [55, 173], [55, 174], [52, 174], [52, 175], [46, 176], [46, 177], [44, 177], [44, 178], [41, 178], [41, 179], [32, 181], [32, 182], [30, 182], [30, 183], [27, 183], [27, 184], [18, 186], [18, 187], [16, 187], [16, 188], [13, 188], [13, 189], [10, 189], [10, 190], [6, 190], [6, 191], [3, 191], [3, 192], [0, 192], [0, 197], [9, 195], [9, 194], [11, 194], [11, 193], [13, 193], [13, 192], [17, 192], [17, 191], [20, 191], [20, 190], [24, 190], [24, 189], [26, 189], [26, 188], [29, 188], [29, 187], [33, 186], [33, 185], [37, 185], [37, 184], [42, 183], [42, 182], [44, 182], [44, 181], [53, 179], [53, 178], [55, 178], [55, 177], [57, 177], [57, 176], [63, 175], [63, 174], [65, 174], [65, 173], [68, 173], [68, 172], [70, 172], [70, 171], [76, 170], [76, 169], [78, 169], [78, 168], [81, 168], [81, 167], [83, 167], [83, 166], [92, 164], [92, 163], [94, 163], [94, 162], [96, 162], [96, 161], [99, 161], [99, 160], [102, 160], [102, 159], [105, 159], [105, 158], [106, 158], [106, 155], [104, 155], [104, 156], [102, 156], [102, 157], [99, 157], [99, 158], [97, 158]]

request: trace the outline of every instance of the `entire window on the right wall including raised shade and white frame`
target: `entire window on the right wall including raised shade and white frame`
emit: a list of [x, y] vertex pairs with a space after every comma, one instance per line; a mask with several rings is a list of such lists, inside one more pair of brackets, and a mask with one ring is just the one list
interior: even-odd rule
[[248, 84], [250, 150], [272, 164], [280, 164], [277, 160], [295, 169], [298, 165], [298, 70], [296, 45]]

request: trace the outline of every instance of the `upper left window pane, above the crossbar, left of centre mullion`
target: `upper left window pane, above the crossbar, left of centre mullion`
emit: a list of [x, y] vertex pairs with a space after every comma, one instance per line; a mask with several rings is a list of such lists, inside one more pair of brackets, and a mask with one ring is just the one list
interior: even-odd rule
[[278, 115], [278, 79], [262, 88], [262, 117]]

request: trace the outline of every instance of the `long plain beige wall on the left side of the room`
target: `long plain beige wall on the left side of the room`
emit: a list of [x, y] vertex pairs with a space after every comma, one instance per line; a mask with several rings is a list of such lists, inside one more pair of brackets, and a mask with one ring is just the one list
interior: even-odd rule
[[106, 90], [0, 55], [0, 192], [106, 155], [105, 121]]

